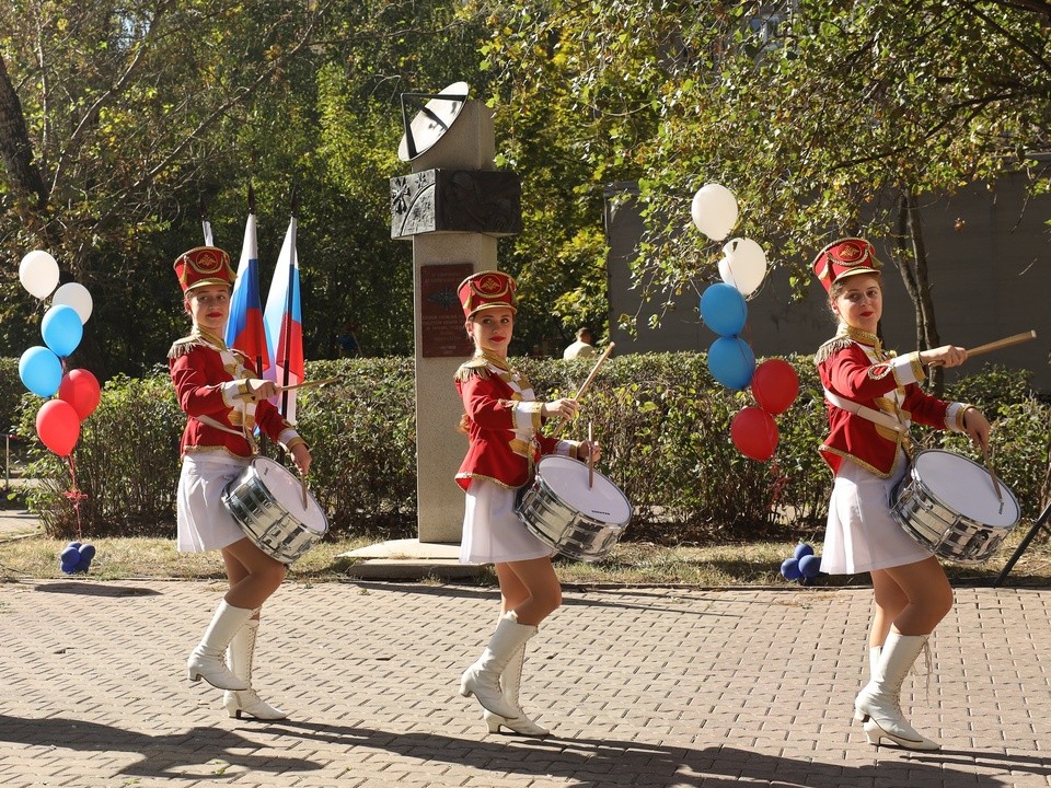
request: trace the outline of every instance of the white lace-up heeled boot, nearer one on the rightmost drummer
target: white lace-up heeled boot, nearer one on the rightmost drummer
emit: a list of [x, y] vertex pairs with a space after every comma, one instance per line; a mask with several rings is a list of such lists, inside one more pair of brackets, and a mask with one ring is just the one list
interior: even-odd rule
[[928, 637], [896, 631], [887, 636], [873, 680], [854, 700], [854, 717], [865, 722], [865, 734], [870, 743], [879, 745], [887, 739], [909, 750], [940, 748], [909, 725], [900, 706], [901, 685]]

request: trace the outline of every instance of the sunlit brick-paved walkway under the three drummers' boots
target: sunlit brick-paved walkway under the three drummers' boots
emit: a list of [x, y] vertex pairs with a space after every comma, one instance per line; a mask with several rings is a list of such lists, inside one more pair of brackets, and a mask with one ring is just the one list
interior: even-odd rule
[[281, 588], [255, 685], [292, 719], [235, 720], [184, 661], [221, 584], [0, 584], [2, 786], [1051, 785], [1051, 591], [959, 589], [936, 671], [905, 683], [939, 753], [869, 745], [865, 589], [567, 589], [530, 642], [546, 740], [485, 733], [460, 672], [498, 596], [470, 586]]

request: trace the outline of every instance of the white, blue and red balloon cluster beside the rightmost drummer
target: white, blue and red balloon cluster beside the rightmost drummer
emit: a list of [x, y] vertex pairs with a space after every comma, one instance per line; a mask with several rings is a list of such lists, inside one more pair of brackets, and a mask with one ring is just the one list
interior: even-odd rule
[[[690, 207], [694, 224], [713, 241], [725, 239], [737, 222], [737, 199], [719, 184], [706, 184]], [[719, 276], [701, 294], [701, 317], [719, 335], [708, 348], [708, 370], [727, 389], [752, 387], [758, 407], [743, 408], [730, 422], [734, 445], [748, 457], [765, 462], [777, 449], [774, 416], [795, 402], [799, 378], [786, 361], [769, 359], [755, 366], [755, 354], [739, 335], [748, 321], [744, 299], [766, 276], [766, 255], [751, 239], [732, 239], [723, 247]]]

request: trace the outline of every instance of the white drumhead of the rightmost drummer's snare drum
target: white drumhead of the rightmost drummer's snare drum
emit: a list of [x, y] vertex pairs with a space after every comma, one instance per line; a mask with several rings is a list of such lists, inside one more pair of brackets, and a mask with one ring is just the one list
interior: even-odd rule
[[1001, 505], [989, 471], [966, 456], [928, 449], [916, 455], [911, 473], [957, 514], [994, 528], [1010, 528], [1018, 522], [1021, 512], [1014, 493], [997, 478], [1004, 499]]

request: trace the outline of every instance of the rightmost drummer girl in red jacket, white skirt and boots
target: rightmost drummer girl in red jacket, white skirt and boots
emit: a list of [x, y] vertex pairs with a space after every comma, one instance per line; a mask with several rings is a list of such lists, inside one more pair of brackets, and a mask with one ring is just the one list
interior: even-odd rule
[[910, 422], [967, 432], [981, 447], [990, 427], [973, 405], [943, 402], [917, 385], [929, 367], [963, 363], [967, 350], [946, 345], [896, 356], [883, 349], [877, 336], [881, 265], [873, 245], [856, 237], [829, 244], [813, 263], [839, 320], [836, 335], [815, 357], [830, 428], [820, 451], [835, 474], [821, 570], [873, 578], [871, 681], [854, 702], [869, 742], [937, 750], [905, 720], [899, 693], [952, 607], [952, 590], [937, 558], [894, 522], [890, 496], [908, 470]]

